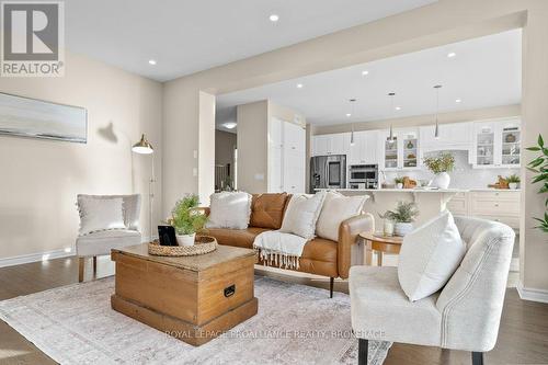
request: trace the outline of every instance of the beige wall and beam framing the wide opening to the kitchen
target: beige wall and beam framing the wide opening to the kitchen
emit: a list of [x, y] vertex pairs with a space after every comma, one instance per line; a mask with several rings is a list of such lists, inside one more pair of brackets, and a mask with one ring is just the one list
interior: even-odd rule
[[[362, 24], [241, 61], [197, 72], [167, 83], [164, 140], [164, 203], [183, 190], [198, 191], [189, 179], [193, 162], [183, 160], [198, 146], [198, 92], [214, 94], [243, 90], [305, 75], [364, 64], [482, 35], [524, 27], [523, 141], [534, 142], [538, 133], [548, 135], [548, 2], [546, 0], [441, 0], [401, 14]], [[525, 158], [529, 158], [526, 153]], [[201, 172], [198, 172], [201, 173]], [[522, 175], [530, 173], [522, 169]], [[525, 184], [523, 212], [545, 212], [536, 186]], [[165, 210], [164, 204], [164, 210]], [[548, 244], [546, 235], [530, 229], [523, 217], [521, 248], [524, 287], [544, 290], [548, 297]]]

